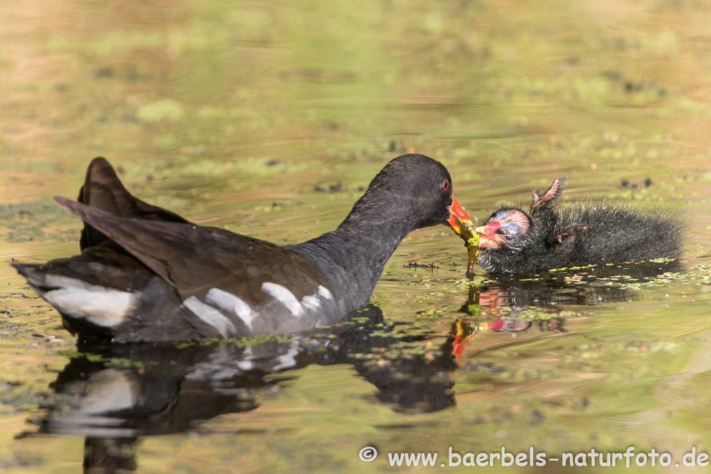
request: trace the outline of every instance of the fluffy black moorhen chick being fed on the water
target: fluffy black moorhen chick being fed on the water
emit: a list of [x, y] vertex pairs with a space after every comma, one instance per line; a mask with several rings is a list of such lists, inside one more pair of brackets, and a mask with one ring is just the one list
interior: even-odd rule
[[555, 210], [565, 178], [533, 192], [529, 212], [502, 208], [478, 227], [487, 271], [531, 272], [587, 264], [638, 262], [682, 253], [684, 224], [669, 212], [576, 203]]

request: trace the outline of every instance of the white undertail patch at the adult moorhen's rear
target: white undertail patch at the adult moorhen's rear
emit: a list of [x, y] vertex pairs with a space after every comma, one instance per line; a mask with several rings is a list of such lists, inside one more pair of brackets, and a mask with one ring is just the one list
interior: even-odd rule
[[48, 275], [46, 284], [59, 286], [41, 295], [59, 311], [105, 328], [122, 323], [138, 298], [136, 293], [90, 285], [67, 276]]

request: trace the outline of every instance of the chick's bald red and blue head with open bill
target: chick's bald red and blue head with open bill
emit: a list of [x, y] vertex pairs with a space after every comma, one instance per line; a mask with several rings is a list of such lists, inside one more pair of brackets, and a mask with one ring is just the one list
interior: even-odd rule
[[485, 225], [476, 228], [479, 233], [479, 247], [520, 252], [532, 227], [533, 221], [523, 210], [499, 209], [491, 214]]

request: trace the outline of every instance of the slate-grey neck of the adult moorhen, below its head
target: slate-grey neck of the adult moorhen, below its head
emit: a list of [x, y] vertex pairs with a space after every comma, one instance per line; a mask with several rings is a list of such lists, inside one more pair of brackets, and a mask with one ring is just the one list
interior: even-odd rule
[[321, 270], [345, 315], [368, 302], [385, 263], [414, 229], [397, 215], [352, 212], [338, 229], [286, 248]]

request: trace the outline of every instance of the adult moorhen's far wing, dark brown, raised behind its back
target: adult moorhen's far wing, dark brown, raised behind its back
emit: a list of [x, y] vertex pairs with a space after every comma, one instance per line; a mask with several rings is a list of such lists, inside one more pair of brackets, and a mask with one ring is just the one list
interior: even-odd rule
[[[84, 185], [77, 200], [85, 205], [105, 210], [117, 217], [189, 223], [175, 212], [159, 208], [136, 198], [124, 188], [114, 168], [105, 158], [94, 158], [87, 168]], [[99, 230], [85, 222], [80, 239], [81, 249], [92, 247], [106, 240]]]

